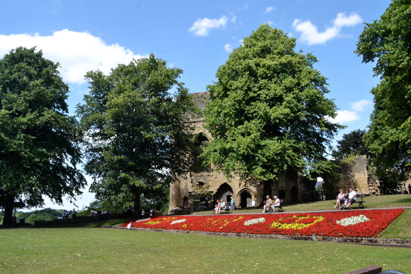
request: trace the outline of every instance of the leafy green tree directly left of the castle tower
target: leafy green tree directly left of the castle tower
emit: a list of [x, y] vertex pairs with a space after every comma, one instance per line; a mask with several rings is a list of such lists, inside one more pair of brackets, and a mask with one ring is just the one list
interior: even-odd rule
[[[78, 106], [88, 132], [86, 171], [100, 200], [134, 203], [158, 193], [190, 166], [192, 141], [186, 114], [193, 111], [181, 69], [153, 54], [119, 65], [109, 75], [90, 71], [85, 104]], [[173, 92], [174, 90], [174, 92]]]

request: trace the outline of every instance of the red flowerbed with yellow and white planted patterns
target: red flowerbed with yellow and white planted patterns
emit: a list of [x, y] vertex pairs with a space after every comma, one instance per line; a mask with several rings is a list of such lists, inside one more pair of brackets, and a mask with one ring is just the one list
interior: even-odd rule
[[[160, 216], [137, 220], [132, 227], [251, 234], [375, 237], [403, 209], [300, 214]], [[129, 223], [121, 226], [126, 227]]]

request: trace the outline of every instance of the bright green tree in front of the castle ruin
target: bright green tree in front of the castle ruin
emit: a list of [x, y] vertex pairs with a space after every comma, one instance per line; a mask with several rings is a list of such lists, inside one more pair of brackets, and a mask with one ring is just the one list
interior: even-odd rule
[[206, 127], [215, 138], [204, 150], [209, 163], [247, 184], [271, 184], [295, 170], [331, 172], [324, 157], [341, 128], [316, 58], [295, 52], [295, 39], [262, 25], [244, 38], [208, 86]]

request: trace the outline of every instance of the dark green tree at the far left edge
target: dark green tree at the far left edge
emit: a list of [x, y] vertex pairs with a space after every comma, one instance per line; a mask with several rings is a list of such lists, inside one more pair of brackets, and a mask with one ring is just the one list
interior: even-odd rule
[[68, 86], [59, 64], [19, 47], [0, 60], [0, 207], [4, 225], [15, 208], [62, 203], [81, 194], [81, 134], [67, 115]]

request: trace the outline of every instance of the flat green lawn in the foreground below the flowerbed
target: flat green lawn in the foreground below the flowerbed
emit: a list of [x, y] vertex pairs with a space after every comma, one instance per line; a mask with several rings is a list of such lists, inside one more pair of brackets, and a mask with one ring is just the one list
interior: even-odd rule
[[409, 248], [341, 243], [101, 228], [1, 229], [0, 242], [1, 273], [411, 272]]

